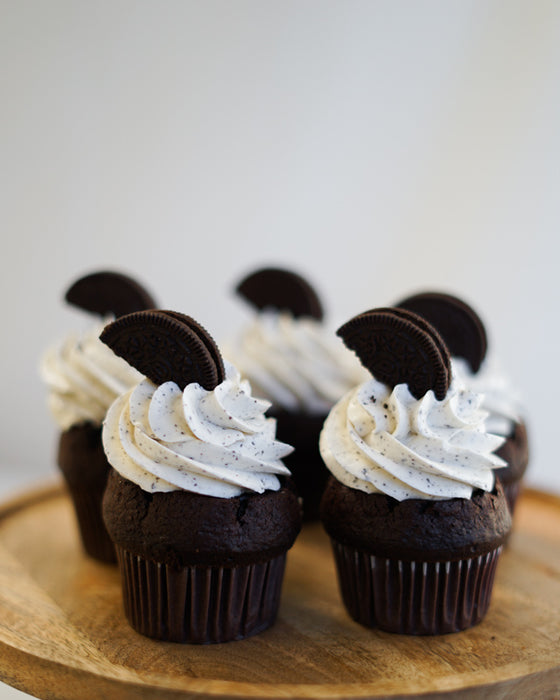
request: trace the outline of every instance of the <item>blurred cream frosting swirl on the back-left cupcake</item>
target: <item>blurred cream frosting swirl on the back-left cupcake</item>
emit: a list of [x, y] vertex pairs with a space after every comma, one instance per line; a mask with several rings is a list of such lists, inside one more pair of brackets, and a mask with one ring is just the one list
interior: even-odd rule
[[61, 430], [85, 421], [101, 426], [115, 398], [142, 378], [99, 340], [105, 323], [69, 335], [42, 358], [48, 406]]

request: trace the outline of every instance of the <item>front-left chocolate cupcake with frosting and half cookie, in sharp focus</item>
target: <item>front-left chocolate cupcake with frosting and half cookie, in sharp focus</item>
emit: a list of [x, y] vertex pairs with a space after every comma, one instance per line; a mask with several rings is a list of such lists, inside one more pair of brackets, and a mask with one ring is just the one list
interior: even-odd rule
[[101, 339], [145, 375], [103, 427], [103, 515], [129, 623], [198, 644], [265, 630], [301, 527], [269, 402], [183, 314], [125, 316]]

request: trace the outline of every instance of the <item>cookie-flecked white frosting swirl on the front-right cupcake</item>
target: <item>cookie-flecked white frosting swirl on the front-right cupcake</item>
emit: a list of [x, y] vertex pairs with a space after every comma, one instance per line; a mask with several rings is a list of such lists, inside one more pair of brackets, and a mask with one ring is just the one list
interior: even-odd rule
[[344, 396], [320, 437], [323, 460], [343, 484], [366, 493], [439, 500], [492, 490], [493, 454], [503, 438], [484, 429], [482, 397], [457, 382], [438, 401], [433, 391], [415, 399], [406, 384], [376, 379]]

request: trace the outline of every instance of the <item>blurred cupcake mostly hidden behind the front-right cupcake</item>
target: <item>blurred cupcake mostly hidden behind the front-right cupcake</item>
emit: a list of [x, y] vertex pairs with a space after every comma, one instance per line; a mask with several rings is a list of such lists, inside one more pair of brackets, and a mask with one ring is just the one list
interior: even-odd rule
[[458, 381], [483, 395], [487, 430], [504, 438], [497, 454], [506, 466], [497, 469], [496, 476], [513, 513], [529, 463], [527, 424], [519, 395], [497, 359], [487, 352], [487, 336], [480, 317], [461, 299], [439, 292], [415, 294], [398, 306], [420, 314], [438, 330], [451, 353]]

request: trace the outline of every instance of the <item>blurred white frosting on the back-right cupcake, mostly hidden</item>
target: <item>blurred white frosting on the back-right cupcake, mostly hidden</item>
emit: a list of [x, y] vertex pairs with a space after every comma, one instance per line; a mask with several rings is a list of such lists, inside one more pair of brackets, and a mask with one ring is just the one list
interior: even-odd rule
[[514, 424], [522, 420], [522, 403], [508, 377], [495, 359], [487, 357], [473, 373], [466, 360], [452, 358], [453, 373], [468, 389], [483, 394], [482, 408], [488, 412], [486, 429], [508, 437]]

